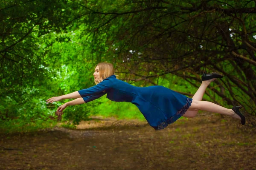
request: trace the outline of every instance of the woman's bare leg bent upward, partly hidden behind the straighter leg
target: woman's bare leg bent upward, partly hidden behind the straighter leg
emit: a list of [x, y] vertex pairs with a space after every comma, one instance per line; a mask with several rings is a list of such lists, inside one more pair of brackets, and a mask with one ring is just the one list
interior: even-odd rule
[[[198, 88], [198, 90], [196, 91], [195, 95], [192, 97], [193, 102], [194, 100], [198, 100], [201, 101], [203, 99], [204, 96], [204, 92], [206, 90], [206, 88], [208, 87], [208, 85], [213, 82], [215, 79], [209, 79], [207, 81], [202, 81], [202, 84], [200, 85], [200, 87]], [[192, 102], [192, 103], [193, 103]], [[183, 114], [184, 117], [195, 117], [196, 114], [198, 113], [198, 110], [195, 111], [186, 111], [185, 114]]]

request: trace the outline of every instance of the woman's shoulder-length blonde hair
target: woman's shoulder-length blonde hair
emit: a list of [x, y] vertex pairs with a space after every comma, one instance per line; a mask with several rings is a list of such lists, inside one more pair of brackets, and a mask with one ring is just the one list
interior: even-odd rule
[[[97, 64], [99, 66], [99, 79], [98, 81], [95, 81], [95, 84], [98, 84], [100, 82], [102, 82], [104, 79], [115, 75], [115, 69], [113, 67], [113, 64], [108, 63], [108, 62], [100, 62], [99, 64]], [[97, 65], [95, 67], [97, 67]], [[116, 78], [118, 78], [118, 75], [115, 75]]]

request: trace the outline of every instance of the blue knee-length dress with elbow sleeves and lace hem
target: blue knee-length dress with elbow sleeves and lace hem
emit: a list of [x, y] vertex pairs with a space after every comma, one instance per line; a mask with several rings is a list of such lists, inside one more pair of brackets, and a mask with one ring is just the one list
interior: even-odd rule
[[78, 91], [84, 102], [107, 94], [114, 102], [131, 102], [136, 105], [148, 124], [161, 130], [179, 119], [189, 108], [192, 99], [160, 85], [136, 87], [116, 79], [115, 75], [91, 88]]

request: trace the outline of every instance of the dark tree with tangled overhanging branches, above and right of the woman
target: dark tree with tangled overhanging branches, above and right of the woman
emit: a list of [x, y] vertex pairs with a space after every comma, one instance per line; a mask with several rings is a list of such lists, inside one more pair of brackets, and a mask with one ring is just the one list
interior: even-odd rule
[[76, 22], [90, 23], [92, 50], [102, 42], [111, 45], [108, 54], [115, 56], [119, 73], [153, 84], [173, 74], [198, 87], [202, 71], [218, 71], [225, 78], [212, 91], [255, 114], [254, 1], [73, 2], [81, 7]]

